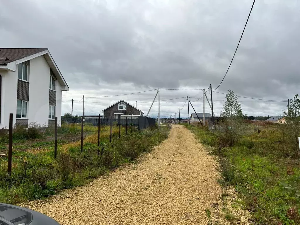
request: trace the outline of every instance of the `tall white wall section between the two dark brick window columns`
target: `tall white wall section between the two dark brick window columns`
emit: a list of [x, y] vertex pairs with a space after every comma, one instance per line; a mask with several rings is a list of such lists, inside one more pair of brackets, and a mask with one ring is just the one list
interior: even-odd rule
[[48, 126], [49, 76], [50, 67], [43, 55], [30, 60], [28, 123]]

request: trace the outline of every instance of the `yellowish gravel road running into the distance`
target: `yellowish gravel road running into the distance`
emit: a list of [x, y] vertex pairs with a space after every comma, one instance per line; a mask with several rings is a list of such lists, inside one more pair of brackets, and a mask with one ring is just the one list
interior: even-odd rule
[[208, 224], [222, 193], [214, 160], [184, 126], [139, 158], [83, 187], [23, 203], [64, 224]]

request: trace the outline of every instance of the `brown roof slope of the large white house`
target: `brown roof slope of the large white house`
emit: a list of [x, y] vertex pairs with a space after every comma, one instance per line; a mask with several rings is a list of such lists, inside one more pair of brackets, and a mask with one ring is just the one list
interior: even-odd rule
[[7, 64], [20, 58], [34, 55], [47, 50], [46, 48], [0, 48], [0, 64]]

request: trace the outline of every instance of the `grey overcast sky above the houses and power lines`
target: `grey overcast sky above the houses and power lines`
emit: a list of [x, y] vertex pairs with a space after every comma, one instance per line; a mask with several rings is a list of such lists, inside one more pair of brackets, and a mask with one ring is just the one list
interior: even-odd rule
[[[147, 113], [156, 88], [216, 88], [230, 63], [252, 0], [9, 0], [0, 1], [0, 47], [48, 48], [70, 91], [62, 113], [98, 114], [120, 99]], [[286, 100], [299, 93], [300, 1], [259, 0], [218, 92]], [[160, 99], [203, 91], [162, 90]], [[208, 94], [208, 92], [207, 92]], [[77, 97], [77, 98], [76, 98]], [[79, 97], [79, 98], [78, 98]], [[76, 99], [75, 99], [76, 98]], [[209, 98], [209, 95], [208, 95]], [[225, 95], [213, 93], [215, 114]], [[191, 99], [195, 101], [196, 99]], [[90, 102], [88, 102], [90, 101]], [[239, 101], [258, 101], [239, 98]], [[94, 103], [101, 102], [101, 103]], [[185, 98], [161, 102], [161, 115]], [[203, 100], [193, 103], [203, 112]], [[286, 102], [242, 102], [243, 113], [277, 116]], [[211, 112], [205, 104], [205, 112]], [[191, 113], [191, 111], [190, 111]], [[158, 114], [158, 103], [150, 116]], [[187, 105], [181, 110], [187, 116]]]

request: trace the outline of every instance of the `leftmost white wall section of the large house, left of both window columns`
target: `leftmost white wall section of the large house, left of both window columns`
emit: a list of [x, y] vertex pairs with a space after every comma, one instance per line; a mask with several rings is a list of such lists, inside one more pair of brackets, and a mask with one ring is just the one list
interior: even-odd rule
[[18, 70], [8, 72], [0, 70], [2, 76], [1, 123], [0, 128], [9, 128], [9, 114], [13, 113], [13, 125], [16, 123]]

